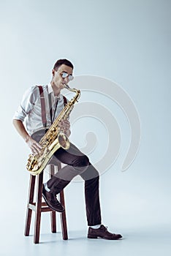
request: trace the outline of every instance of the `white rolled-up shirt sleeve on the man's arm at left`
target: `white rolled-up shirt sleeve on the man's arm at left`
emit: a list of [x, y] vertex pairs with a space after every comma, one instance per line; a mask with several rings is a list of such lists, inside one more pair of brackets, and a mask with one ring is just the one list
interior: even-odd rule
[[31, 110], [34, 108], [34, 103], [36, 101], [37, 95], [37, 86], [32, 86], [29, 88], [23, 95], [23, 99], [18, 107], [18, 110], [15, 111], [13, 119], [24, 121], [26, 116], [31, 113]]

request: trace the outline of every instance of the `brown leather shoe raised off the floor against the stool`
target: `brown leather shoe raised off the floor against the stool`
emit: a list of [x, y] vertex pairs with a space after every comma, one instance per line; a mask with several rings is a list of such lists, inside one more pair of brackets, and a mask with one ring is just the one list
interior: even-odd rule
[[51, 192], [47, 192], [45, 190], [44, 185], [43, 185], [43, 189], [42, 189], [42, 196], [45, 199], [47, 206], [49, 206], [53, 211], [58, 211], [58, 212], [65, 211], [64, 207], [57, 200], [56, 195], [53, 195], [53, 193], [51, 193]]

